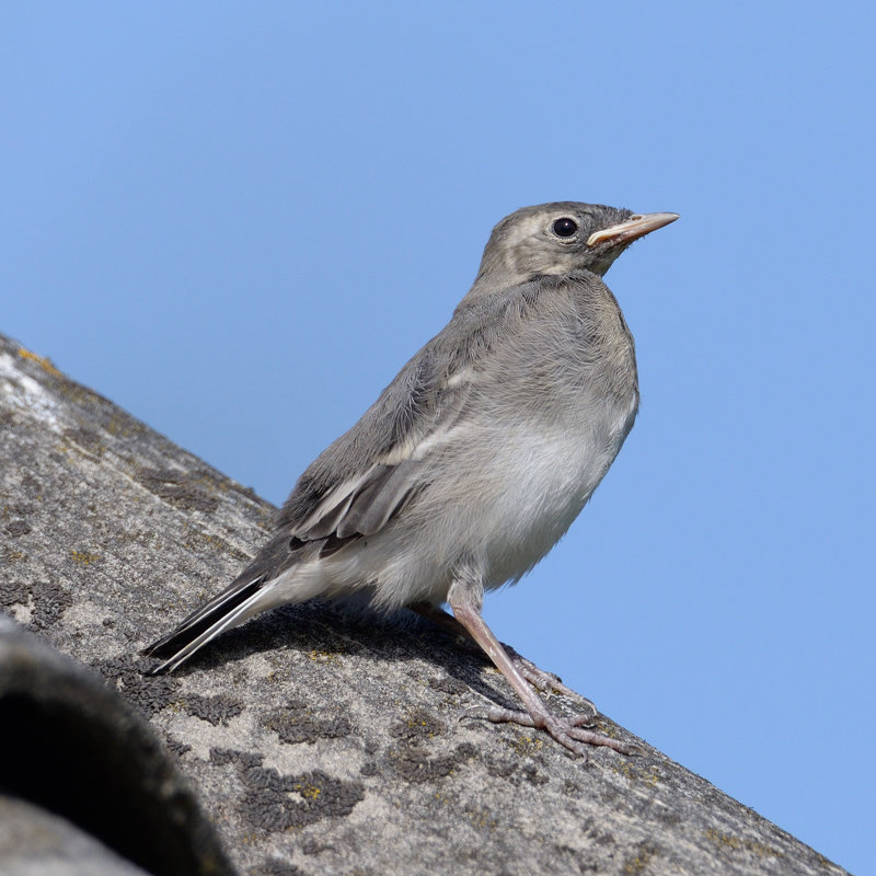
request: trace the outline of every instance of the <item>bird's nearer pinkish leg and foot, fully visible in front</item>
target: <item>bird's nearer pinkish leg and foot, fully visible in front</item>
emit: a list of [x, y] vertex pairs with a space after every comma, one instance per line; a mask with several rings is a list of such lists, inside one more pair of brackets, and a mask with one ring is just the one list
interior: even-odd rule
[[[453, 614], [486, 652], [527, 707], [526, 712], [512, 712], [509, 708], [493, 706], [486, 712], [489, 721], [510, 722], [546, 730], [557, 742], [584, 757], [587, 756], [587, 746], [607, 746], [623, 754], [637, 753], [638, 749], [633, 746], [585, 729], [580, 726], [583, 722], [579, 718], [568, 718], [549, 712], [481, 616], [483, 601], [484, 588], [480, 576], [470, 570], [458, 574], [448, 593], [448, 602], [453, 609]], [[589, 716], [586, 719], [589, 721]]]

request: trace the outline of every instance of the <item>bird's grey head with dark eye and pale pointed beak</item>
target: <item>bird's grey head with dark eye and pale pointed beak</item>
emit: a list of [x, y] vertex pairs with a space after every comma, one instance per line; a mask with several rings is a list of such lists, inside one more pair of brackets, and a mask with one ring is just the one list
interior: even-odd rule
[[472, 291], [543, 274], [590, 270], [601, 277], [634, 240], [676, 219], [673, 212], [642, 215], [570, 200], [523, 207], [493, 229]]

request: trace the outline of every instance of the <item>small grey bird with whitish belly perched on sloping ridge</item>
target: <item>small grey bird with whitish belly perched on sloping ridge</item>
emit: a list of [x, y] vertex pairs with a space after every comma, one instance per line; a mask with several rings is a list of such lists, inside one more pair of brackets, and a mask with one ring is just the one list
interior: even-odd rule
[[542, 728], [577, 754], [632, 751], [587, 729], [592, 715], [553, 714], [533, 687], [558, 679], [506, 650], [481, 608], [563, 537], [630, 433], [633, 336], [602, 276], [676, 219], [574, 201], [503, 219], [447, 326], [304, 471], [244, 572], [145, 649], [164, 658], [153, 671], [268, 609], [358, 593], [476, 642], [526, 706], [489, 719]]

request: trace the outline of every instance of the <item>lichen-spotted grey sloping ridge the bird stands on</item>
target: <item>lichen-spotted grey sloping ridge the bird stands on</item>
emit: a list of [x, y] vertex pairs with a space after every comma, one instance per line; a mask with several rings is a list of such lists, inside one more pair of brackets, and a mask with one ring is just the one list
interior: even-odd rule
[[511, 691], [425, 621], [313, 602], [142, 675], [138, 649], [240, 570], [273, 511], [0, 336], [0, 611], [146, 716], [240, 873], [844, 872], [609, 718], [645, 756], [461, 721]]

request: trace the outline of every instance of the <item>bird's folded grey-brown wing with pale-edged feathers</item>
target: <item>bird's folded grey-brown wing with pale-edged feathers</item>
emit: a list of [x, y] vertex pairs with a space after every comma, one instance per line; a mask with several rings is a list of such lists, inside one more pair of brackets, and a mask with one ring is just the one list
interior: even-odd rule
[[531, 331], [543, 286], [523, 284], [457, 309], [361, 419], [301, 475], [278, 519], [293, 549], [327, 539], [325, 552], [338, 540], [372, 535], [426, 485], [429, 456], [448, 441], [465, 440], [461, 414], [477, 391], [484, 359]]

